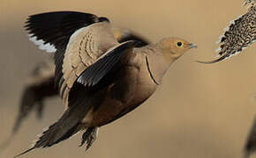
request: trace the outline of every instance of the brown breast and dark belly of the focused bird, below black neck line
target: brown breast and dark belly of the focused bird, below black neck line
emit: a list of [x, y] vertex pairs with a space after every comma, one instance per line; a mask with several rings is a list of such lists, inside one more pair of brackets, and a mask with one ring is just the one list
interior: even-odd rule
[[117, 73], [122, 77], [109, 85], [102, 104], [84, 119], [90, 120], [89, 126], [103, 126], [124, 116], [154, 93], [157, 85], [148, 74], [146, 63], [142, 64], [140, 68], [127, 67]]

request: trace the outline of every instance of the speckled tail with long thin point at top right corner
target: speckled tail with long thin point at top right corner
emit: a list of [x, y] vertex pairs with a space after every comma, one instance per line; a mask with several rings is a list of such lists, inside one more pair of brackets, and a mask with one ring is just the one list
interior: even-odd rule
[[224, 34], [216, 42], [221, 46], [216, 49], [219, 54], [214, 61], [198, 61], [200, 63], [211, 64], [230, 58], [242, 52], [256, 40], [256, 5], [255, 1], [245, 1], [251, 3], [248, 11], [235, 20], [230, 21], [230, 25], [223, 29]]

